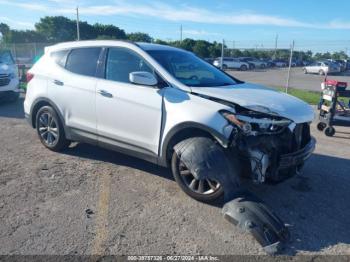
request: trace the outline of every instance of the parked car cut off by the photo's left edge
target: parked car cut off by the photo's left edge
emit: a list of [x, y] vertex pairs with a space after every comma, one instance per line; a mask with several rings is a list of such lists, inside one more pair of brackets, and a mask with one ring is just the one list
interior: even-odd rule
[[16, 101], [19, 97], [18, 68], [10, 51], [0, 51], [0, 98]]

